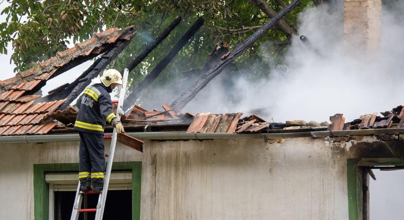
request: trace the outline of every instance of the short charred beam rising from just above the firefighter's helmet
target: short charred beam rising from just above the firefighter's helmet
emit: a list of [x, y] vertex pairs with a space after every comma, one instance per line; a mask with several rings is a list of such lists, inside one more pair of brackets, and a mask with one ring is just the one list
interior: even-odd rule
[[[146, 58], [147, 55], [149, 55], [149, 53], [154, 50], [154, 48], [156, 48], [160, 43], [162, 43], [163, 40], [166, 39], [166, 37], [168, 37], [170, 32], [174, 30], [174, 28], [178, 26], [178, 24], [180, 24], [180, 22], [181, 17], [177, 17], [173, 22], [170, 23], [170, 25], [166, 27], [166, 29], [164, 29], [163, 32], [160, 33], [160, 35], [156, 38], [156, 40], [154, 40], [153, 43], [149, 44], [141, 54], [139, 54], [135, 59], [133, 59], [133, 61], [127, 67], [129, 72], [132, 71], [136, 66], [138, 66], [144, 60], [144, 58]], [[121, 74], [123, 75], [123, 71], [121, 71]]]

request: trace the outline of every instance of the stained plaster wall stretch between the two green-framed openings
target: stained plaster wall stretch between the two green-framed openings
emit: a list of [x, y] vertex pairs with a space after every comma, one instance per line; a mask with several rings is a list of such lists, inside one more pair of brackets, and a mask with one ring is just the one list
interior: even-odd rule
[[347, 220], [346, 157], [323, 139], [147, 142], [142, 220]]

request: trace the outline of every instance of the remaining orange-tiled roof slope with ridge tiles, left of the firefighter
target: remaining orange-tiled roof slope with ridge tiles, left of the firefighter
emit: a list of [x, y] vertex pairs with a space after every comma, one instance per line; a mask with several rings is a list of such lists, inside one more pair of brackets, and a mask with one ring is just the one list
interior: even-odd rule
[[45, 134], [58, 123], [49, 117], [66, 99], [41, 102], [35, 93], [46, 81], [108, 51], [119, 42], [130, 41], [136, 34], [134, 26], [96, 33], [74, 47], [58, 52], [55, 57], [39, 63], [15, 77], [0, 81], [0, 135]]

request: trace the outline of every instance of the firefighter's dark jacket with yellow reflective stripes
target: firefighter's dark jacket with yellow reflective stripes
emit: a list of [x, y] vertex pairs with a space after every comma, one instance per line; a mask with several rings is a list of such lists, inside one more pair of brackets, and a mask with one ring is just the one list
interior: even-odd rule
[[105, 123], [114, 122], [111, 88], [94, 84], [84, 89], [74, 129], [82, 132], [104, 133]]

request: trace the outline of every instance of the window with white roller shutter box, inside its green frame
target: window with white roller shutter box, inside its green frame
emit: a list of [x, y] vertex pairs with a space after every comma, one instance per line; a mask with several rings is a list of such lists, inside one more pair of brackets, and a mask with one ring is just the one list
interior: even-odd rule
[[[70, 220], [77, 189], [77, 173], [47, 173], [49, 184], [49, 220]], [[130, 220], [132, 216], [132, 172], [112, 172], [106, 200], [105, 219]], [[95, 208], [98, 195], [85, 195], [83, 208]], [[125, 201], [125, 202], [122, 202]], [[118, 211], [119, 210], [119, 211]], [[111, 218], [108, 218], [108, 217]], [[94, 220], [95, 213], [80, 214], [79, 220]]]

